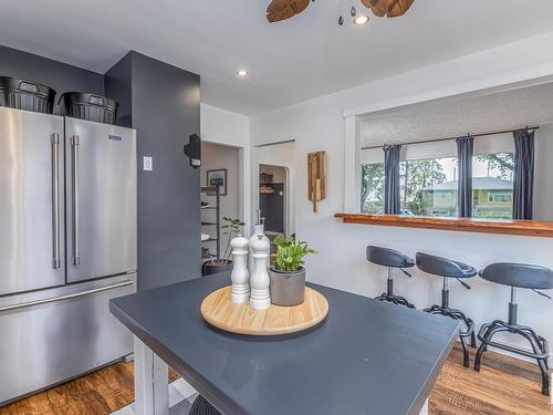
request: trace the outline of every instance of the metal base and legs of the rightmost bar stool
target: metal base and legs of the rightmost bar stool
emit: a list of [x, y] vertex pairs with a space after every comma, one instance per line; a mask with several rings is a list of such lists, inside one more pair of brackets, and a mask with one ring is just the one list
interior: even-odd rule
[[[478, 332], [478, 339], [482, 342], [480, 347], [478, 347], [477, 355], [474, 357], [474, 371], [480, 372], [480, 364], [482, 361], [482, 354], [488, 350], [488, 346], [498, 347], [511, 353], [520, 354], [522, 356], [535, 359], [540, 371], [542, 373], [542, 394], [550, 395], [550, 373], [549, 373], [549, 343], [545, 339], [538, 335], [534, 330], [528, 325], [520, 325], [517, 323], [517, 302], [515, 302], [515, 291], [511, 288], [511, 302], [509, 303], [509, 322], [501, 320], [494, 320], [491, 323], [482, 324], [480, 331]], [[501, 332], [509, 332], [518, 334], [526, 339], [532, 346], [532, 352], [523, 349], [511, 346], [508, 344], [502, 344], [492, 341], [493, 335]]]

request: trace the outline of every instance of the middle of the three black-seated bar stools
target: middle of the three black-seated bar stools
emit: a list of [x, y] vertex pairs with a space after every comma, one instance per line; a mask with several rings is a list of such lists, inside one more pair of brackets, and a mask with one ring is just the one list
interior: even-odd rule
[[469, 319], [461, 310], [451, 309], [449, 307], [449, 279], [455, 278], [462, 287], [470, 290], [470, 286], [462, 281], [466, 278], [472, 278], [477, 274], [476, 268], [462, 262], [452, 261], [450, 259], [435, 257], [428, 253], [417, 253], [417, 267], [427, 273], [441, 277], [444, 279], [444, 288], [441, 289], [441, 305], [432, 305], [426, 309], [425, 312], [430, 314], [440, 314], [449, 317], [453, 320], [460, 320], [465, 324], [465, 330], [459, 332], [459, 339], [462, 346], [462, 365], [469, 367], [469, 350], [467, 347], [467, 338], [470, 338], [470, 345], [477, 346], [474, 335], [474, 322]]

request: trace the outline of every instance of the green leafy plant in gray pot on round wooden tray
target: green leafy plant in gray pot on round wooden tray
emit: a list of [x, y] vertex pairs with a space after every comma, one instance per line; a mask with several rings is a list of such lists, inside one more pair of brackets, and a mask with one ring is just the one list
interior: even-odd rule
[[307, 242], [278, 236], [276, 258], [269, 268], [271, 302], [276, 305], [298, 305], [305, 297], [305, 256], [316, 253]]

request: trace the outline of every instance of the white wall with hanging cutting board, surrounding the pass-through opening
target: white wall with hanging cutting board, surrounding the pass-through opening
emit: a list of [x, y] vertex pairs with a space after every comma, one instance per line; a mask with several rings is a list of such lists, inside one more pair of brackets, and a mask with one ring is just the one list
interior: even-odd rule
[[[251, 118], [253, 144], [295, 139], [295, 230], [319, 255], [307, 259], [307, 279], [346, 291], [374, 297], [385, 289], [385, 270], [365, 261], [368, 243], [388, 246], [415, 256], [421, 250], [451, 257], [482, 268], [493, 261], [520, 261], [553, 268], [553, 239], [440, 230], [344, 225], [334, 218], [342, 211], [352, 174], [357, 168], [355, 148], [344, 147], [358, 127], [343, 115], [385, 110], [424, 100], [468, 93], [553, 75], [553, 32], [493, 50], [462, 56], [403, 75], [286, 106]], [[346, 118], [347, 120], [347, 118]], [[324, 149], [328, 157], [326, 199], [314, 214], [307, 200], [306, 154]], [[347, 160], [347, 166], [344, 165]], [[347, 167], [347, 168], [346, 168]], [[349, 186], [351, 187], [351, 186]], [[353, 205], [352, 205], [353, 206]], [[413, 279], [397, 277], [398, 293], [417, 308], [440, 299], [440, 281], [415, 271]], [[465, 290], [451, 284], [451, 303], [472, 317], [477, 324], [507, 319], [509, 290], [479, 279]], [[553, 301], [530, 291], [521, 292], [520, 321], [553, 341]]]

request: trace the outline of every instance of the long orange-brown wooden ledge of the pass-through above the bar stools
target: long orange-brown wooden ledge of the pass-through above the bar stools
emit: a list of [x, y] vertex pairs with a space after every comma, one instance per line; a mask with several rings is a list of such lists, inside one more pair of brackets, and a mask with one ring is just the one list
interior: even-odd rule
[[463, 232], [519, 235], [553, 238], [553, 222], [538, 220], [490, 220], [472, 218], [434, 218], [401, 215], [335, 214], [345, 224], [441, 229]]

